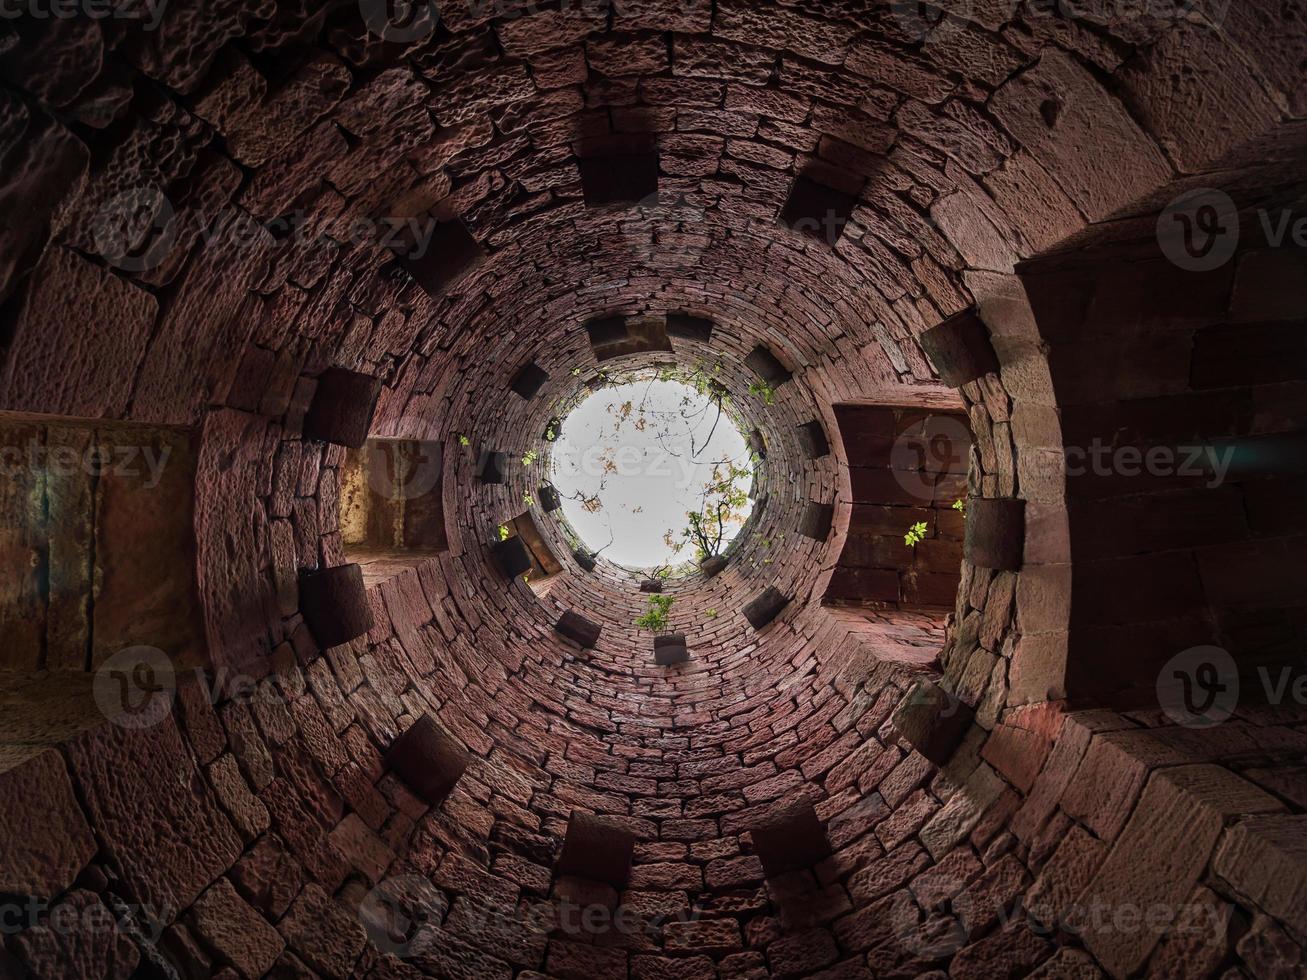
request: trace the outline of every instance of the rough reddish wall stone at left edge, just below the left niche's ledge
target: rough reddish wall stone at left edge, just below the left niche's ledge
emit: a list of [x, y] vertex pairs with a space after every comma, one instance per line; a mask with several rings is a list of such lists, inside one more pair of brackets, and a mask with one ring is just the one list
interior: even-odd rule
[[52, 899], [72, 887], [97, 849], [63, 757], [0, 749], [0, 892]]

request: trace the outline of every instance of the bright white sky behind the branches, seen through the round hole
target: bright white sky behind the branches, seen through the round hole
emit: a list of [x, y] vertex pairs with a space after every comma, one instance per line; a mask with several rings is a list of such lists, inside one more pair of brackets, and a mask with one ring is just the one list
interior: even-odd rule
[[[686, 399], [689, 402], [682, 404]], [[626, 401], [634, 402], [635, 410], [618, 425], [620, 408]], [[642, 404], [648, 418], [643, 433], [635, 425]], [[659, 419], [652, 414], [677, 410], [690, 416], [691, 422], [676, 417]], [[693, 545], [673, 555], [663, 536], [672, 529], [673, 537], [681, 538], [687, 524], [685, 515], [699, 507], [703, 486], [712, 480], [714, 463], [733, 460], [737, 466], [752, 469], [749, 444], [725, 413], [712, 433], [716, 416], [711, 399], [690, 385], [648, 379], [604, 388], [578, 405], [563, 419], [550, 464], [553, 483], [563, 498], [563, 515], [582, 542], [599, 550], [612, 536], [613, 544], [604, 558], [629, 568], [693, 561]], [[710, 433], [712, 439], [704, 443]], [[691, 434], [697, 448], [693, 459]], [[606, 481], [605, 456], [617, 464]], [[571, 499], [576, 493], [599, 494], [604, 508], [588, 514], [579, 500]], [[746, 517], [752, 508], [750, 500], [744, 511]], [[727, 529], [723, 549], [738, 531], [738, 525]]]

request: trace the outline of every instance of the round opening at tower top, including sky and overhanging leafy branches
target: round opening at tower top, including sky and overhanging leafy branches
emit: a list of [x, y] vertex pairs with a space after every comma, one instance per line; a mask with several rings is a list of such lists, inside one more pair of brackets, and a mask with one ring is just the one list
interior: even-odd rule
[[550, 451], [580, 545], [669, 572], [721, 554], [753, 512], [755, 463], [728, 409], [725, 389], [701, 372], [646, 371], [586, 389]]

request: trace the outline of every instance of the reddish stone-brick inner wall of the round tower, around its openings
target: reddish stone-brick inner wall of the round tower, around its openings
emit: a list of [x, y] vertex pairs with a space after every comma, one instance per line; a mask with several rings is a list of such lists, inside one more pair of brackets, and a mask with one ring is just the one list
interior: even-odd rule
[[[199, 429], [209, 664], [145, 728], [106, 724], [103, 676], [5, 686], [22, 724], [0, 742], [0, 892], [129, 906], [162, 938], [37, 916], [0, 972], [127, 976], [156, 956], [165, 976], [384, 980], [1291, 970], [1307, 924], [1274, 881], [1300, 865], [1300, 717], [1246, 708], [1195, 732], [1064, 700], [1095, 662], [1085, 606], [1127, 608], [1093, 604], [1095, 566], [1121, 555], [1094, 551], [1100, 515], [1063, 466], [1090, 431], [1086, 365], [1132, 396], [1174, 393], [1179, 368], [1145, 358], [1132, 388], [1132, 348], [1080, 344], [1065, 310], [1068, 280], [1119, 282], [1134, 250], [1051, 253], [1148, 238], [1178, 186], [1278, 187], [1302, 158], [1300, 12], [1246, 3], [1213, 26], [976, 4], [925, 30], [859, 4], [442, 7], [437, 33], [388, 39], [369, 4], [264, 4], [165, 12], [159, 30], [24, 22], [0, 43], [3, 408]], [[664, 199], [587, 206], [578, 159], [650, 137]], [[851, 206], [834, 247], [778, 227], [797, 176]], [[115, 252], [112, 220], [167, 209]], [[442, 225], [422, 264], [404, 234], [429, 218], [477, 247]], [[1239, 253], [1219, 302], [1243, 308], [1242, 280], [1291, 306], [1295, 267], [1269, 251]], [[1129, 282], [1153, 315], [1161, 294]], [[1150, 333], [1216, 293], [1162, 306]], [[835, 406], [942, 402], [918, 337], [972, 306], [999, 370], [961, 388], [971, 491], [1025, 502], [1022, 566], [963, 563], [949, 623], [823, 606], [851, 499]], [[1231, 389], [1255, 401], [1234, 435], [1291, 433], [1300, 379], [1239, 372], [1276, 367], [1264, 351], [1295, 311], [1253, 306], [1249, 338], [1193, 332], [1188, 380], [1212, 410]], [[703, 354], [723, 357], [771, 472], [728, 570], [672, 587], [690, 660], [660, 668], [633, 626], [646, 597], [610, 567], [569, 562], [544, 596], [505, 580], [486, 545], [535, 487], [511, 468], [480, 486], [476, 466], [540, 443], [571, 368], [592, 367], [588, 320], [669, 312], [716, 324]], [[766, 410], [738, 395], [759, 344], [793, 374]], [[524, 400], [510, 385], [529, 363], [549, 380]], [[320, 649], [299, 572], [349, 559], [346, 451], [305, 436], [328, 368], [383, 382], [371, 435], [444, 447], [448, 549], [341, 593], [371, 626]], [[818, 460], [796, 431], [813, 418], [833, 448]], [[1246, 493], [1255, 507], [1274, 487]], [[836, 503], [825, 542], [796, 534], [814, 499]], [[1293, 568], [1297, 517], [1259, 514], [1283, 527], [1253, 545]], [[1297, 638], [1276, 591], [1294, 579], [1249, 579], [1274, 585], [1259, 605], [1199, 574], [1191, 606], [1221, 635], [1256, 640], [1251, 610]], [[744, 608], [769, 587], [792, 601], [755, 627]], [[599, 639], [559, 636], [567, 610]], [[439, 730], [397, 742], [425, 715]], [[423, 763], [440, 779], [413, 779]], [[575, 811], [634, 838], [629, 872], [625, 845], [578, 864]], [[423, 928], [395, 921], [395, 890]], [[1077, 904], [1233, 926], [1059, 928]]]

